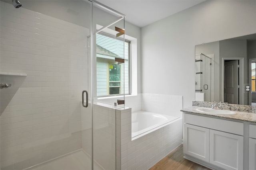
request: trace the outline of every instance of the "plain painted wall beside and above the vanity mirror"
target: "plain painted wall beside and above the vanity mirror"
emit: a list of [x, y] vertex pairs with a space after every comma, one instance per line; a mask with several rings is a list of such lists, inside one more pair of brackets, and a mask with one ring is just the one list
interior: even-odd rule
[[142, 28], [142, 93], [194, 100], [195, 45], [256, 33], [256, 1], [205, 1]]

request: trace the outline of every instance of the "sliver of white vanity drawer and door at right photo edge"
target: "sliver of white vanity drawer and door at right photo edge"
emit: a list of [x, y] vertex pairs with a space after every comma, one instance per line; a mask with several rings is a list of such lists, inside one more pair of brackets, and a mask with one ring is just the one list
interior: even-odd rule
[[256, 170], [256, 125], [249, 125], [249, 170]]

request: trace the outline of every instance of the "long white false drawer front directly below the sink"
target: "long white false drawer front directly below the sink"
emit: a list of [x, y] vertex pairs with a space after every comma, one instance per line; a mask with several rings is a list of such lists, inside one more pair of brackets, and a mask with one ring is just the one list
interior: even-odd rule
[[[244, 135], [244, 123], [184, 113], [184, 123]], [[256, 128], [256, 127], [255, 127]], [[256, 131], [255, 131], [256, 132]], [[256, 135], [256, 133], [254, 133]]]

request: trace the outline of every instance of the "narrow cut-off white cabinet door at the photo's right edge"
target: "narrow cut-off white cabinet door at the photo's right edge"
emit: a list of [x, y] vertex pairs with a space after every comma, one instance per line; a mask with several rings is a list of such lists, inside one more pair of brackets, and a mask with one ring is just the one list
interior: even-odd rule
[[256, 170], [256, 139], [249, 138], [249, 170]]

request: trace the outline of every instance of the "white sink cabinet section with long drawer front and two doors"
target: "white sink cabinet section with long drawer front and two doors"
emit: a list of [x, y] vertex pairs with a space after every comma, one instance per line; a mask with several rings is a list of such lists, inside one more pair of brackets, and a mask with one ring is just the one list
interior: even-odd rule
[[243, 133], [243, 123], [184, 113], [184, 156], [214, 169], [243, 170]]

